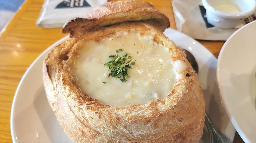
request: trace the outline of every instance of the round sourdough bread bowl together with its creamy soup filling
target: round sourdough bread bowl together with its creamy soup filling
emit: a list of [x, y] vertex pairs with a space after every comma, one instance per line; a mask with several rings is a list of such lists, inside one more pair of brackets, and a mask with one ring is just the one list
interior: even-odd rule
[[[56, 46], [43, 63], [43, 81], [48, 101], [62, 129], [73, 142], [199, 141], [203, 134], [205, 102], [197, 74], [187, 61], [181, 48], [165, 37], [162, 30], [151, 24], [123, 22], [81, 33], [83, 34], [72, 37]], [[138, 40], [134, 43], [136, 39]], [[101, 61], [97, 57], [95, 58], [95, 63], [99, 63], [97, 66], [87, 66], [84, 63], [93, 61], [94, 55], [92, 53], [103, 55], [106, 53], [105, 56], [109, 58], [107, 49], [113, 47], [111, 45], [115, 45], [116, 41], [119, 40], [126, 40], [126, 44], [130, 44], [127, 47], [124, 46], [126, 44], [119, 42], [119, 47], [114, 47], [114, 49], [118, 51], [118, 49], [123, 48], [128, 51], [129, 56], [132, 56], [135, 64], [130, 64], [131, 69], [128, 70], [131, 77], [127, 77], [126, 82], [106, 75], [103, 76], [104, 81], [99, 77], [94, 77], [93, 74], [95, 73], [99, 72], [103, 75], [108, 72], [108, 67], [105, 65], [105, 62], [108, 61]], [[110, 46], [106, 46], [106, 42]], [[153, 47], [152, 49], [156, 50], [148, 55], [149, 58], [142, 57], [139, 59], [143, 55], [143, 49], [146, 48], [144, 45], [147, 42], [151, 45], [148, 47]], [[88, 43], [96, 46], [88, 46]], [[137, 49], [132, 47], [132, 45], [137, 44], [140, 45], [136, 46]], [[103, 48], [96, 49], [98, 47]], [[142, 47], [142, 50], [138, 49], [139, 47]], [[132, 51], [135, 51], [135, 54]], [[143, 61], [144, 58], [152, 59], [156, 55], [155, 52], [158, 51], [168, 55], [165, 58], [156, 57], [161, 62], [160, 68], [162, 65], [171, 65], [170, 69], [166, 69], [169, 71], [162, 70], [165, 75], [157, 74], [159, 78], [156, 76], [143, 77], [144, 84], [138, 82], [139, 84], [136, 85], [135, 81], [138, 80], [136, 78], [142, 76], [137, 69], [138, 66], [148, 69], [153, 67], [151, 69], [155, 71], [154, 64], [148, 66], [148, 64], [144, 65], [140, 61]], [[113, 54], [119, 53], [114, 51]], [[79, 64], [81, 59], [83, 64]], [[78, 69], [81, 65], [84, 66], [81, 68], [82, 71]], [[104, 71], [99, 70], [101, 69], [99, 66], [105, 68]], [[138, 76], [131, 72], [136, 71], [136, 69]], [[89, 75], [86, 75], [88, 73], [85, 74], [84, 72], [89, 70], [91, 70]], [[144, 73], [150, 74], [151, 71]], [[89, 80], [91, 77], [92, 81]], [[86, 81], [85, 84], [81, 84], [82, 78], [85, 78], [83, 79]], [[135, 86], [129, 84], [133, 82]], [[112, 83], [117, 83], [117, 86]], [[123, 86], [125, 84], [128, 84], [128, 87]], [[150, 84], [152, 86], [147, 87]], [[119, 85], [121, 85], [121, 89], [118, 87]], [[165, 90], [165, 85], [169, 85], [169, 89], [166, 90], [169, 92], [166, 95], [158, 95], [162, 90]], [[136, 91], [139, 90], [136, 94], [141, 93], [143, 95], [133, 97], [135, 100], [132, 100], [130, 96], [123, 98], [127, 91], [133, 94], [135, 88], [137, 88]], [[106, 93], [96, 96], [95, 94], [101, 93], [96, 91], [101, 89], [104, 89], [103, 92], [106, 90]], [[125, 89], [126, 92], [124, 92]], [[156, 90], [159, 91], [152, 100], [151, 98], [144, 100], [150, 91], [149, 89], [153, 90], [154, 93]], [[111, 93], [112, 91], [118, 92]], [[152, 93], [148, 94], [152, 95]], [[113, 98], [104, 101], [104, 98], [109, 98], [108, 96], [112, 95], [122, 100], [119, 102]], [[140, 98], [143, 100], [140, 101]]]

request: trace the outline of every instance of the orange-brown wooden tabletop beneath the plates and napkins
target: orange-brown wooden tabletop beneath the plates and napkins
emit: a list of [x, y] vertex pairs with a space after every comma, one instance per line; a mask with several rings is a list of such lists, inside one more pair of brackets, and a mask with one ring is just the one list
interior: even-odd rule
[[[171, 0], [148, 0], [164, 13], [171, 22], [171, 28], [176, 29]], [[61, 28], [40, 28], [36, 20], [40, 14], [43, 0], [27, 0], [11, 19], [6, 29], [1, 33], [1, 136], [0, 142], [12, 142], [10, 131], [10, 115], [12, 100], [16, 88], [24, 72], [47, 47], [66, 36]], [[224, 44], [224, 41], [199, 40], [215, 57]], [[234, 142], [243, 142], [236, 133]]]

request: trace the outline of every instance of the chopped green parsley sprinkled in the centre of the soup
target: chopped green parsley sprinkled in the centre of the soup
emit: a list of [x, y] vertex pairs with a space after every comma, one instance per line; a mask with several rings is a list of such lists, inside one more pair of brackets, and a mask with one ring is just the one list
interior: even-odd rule
[[[122, 51], [123, 49], [119, 49], [116, 52], [120, 53]], [[104, 64], [104, 66], [108, 66], [108, 71], [110, 71], [108, 76], [116, 77], [122, 82], [126, 82], [126, 79], [130, 78], [130, 76], [127, 74], [127, 70], [131, 69], [131, 65], [135, 65], [135, 62], [131, 62], [132, 57], [128, 56], [126, 52], [124, 52], [122, 57], [118, 54], [111, 55], [109, 57], [112, 59], [110, 59], [107, 63]], [[130, 62], [131, 64], [129, 64]]]

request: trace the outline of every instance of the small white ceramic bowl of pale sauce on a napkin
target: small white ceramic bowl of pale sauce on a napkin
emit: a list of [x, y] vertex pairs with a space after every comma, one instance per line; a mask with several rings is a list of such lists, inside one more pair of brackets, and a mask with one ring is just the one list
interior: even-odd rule
[[242, 21], [255, 13], [255, 0], [202, 0], [206, 19], [221, 29], [237, 28]]

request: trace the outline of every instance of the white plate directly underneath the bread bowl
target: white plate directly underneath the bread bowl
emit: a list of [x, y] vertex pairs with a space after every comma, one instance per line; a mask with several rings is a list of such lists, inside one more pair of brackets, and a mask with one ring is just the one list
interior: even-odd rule
[[[216, 83], [217, 59], [200, 43], [175, 30], [164, 34], [177, 45], [190, 51], [199, 64], [199, 80], [205, 95], [206, 110], [217, 127], [233, 140], [235, 128], [220, 102]], [[68, 37], [57, 41], [38, 56], [22, 77], [11, 109], [11, 135], [13, 142], [71, 142], [62, 131], [47, 101], [42, 79], [42, 63], [50, 50]], [[204, 128], [200, 142], [209, 142]]]

